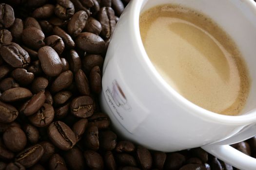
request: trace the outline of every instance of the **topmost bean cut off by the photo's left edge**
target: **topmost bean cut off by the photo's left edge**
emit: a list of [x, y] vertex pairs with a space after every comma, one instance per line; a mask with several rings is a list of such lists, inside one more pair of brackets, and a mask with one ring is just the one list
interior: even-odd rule
[[0, 3], [0, 28], [9, 28], [14, 23], [13, 8], [5, 3]]

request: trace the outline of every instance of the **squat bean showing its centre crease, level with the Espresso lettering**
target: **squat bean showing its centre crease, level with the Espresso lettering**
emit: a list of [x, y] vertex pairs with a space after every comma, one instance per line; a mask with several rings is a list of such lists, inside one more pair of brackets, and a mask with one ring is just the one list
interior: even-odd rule
[[71, 113], [79, 118], [87, 118], [93, 115], [93, 100], [90, 96], [80, 96], [70, 104]]

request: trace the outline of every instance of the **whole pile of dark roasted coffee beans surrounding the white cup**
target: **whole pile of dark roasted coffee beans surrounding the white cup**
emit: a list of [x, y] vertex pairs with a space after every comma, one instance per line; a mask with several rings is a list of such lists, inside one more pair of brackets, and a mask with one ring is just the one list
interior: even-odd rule
[[[0, 170], [234, 170], [200, 148], [149, 151], [111, 130], [101, 69], [129, 0], [1, 0]], [[234, 145], [256, 156], [256, 137]]]

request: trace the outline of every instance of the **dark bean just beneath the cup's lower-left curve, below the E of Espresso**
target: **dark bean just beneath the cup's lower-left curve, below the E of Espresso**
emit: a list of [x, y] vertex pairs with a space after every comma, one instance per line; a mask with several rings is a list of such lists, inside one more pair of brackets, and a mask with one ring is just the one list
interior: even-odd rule
[[103, 150], [112, 151], [117, 146], [117, 135], [110, 131], [99, 131], [99, 146]]

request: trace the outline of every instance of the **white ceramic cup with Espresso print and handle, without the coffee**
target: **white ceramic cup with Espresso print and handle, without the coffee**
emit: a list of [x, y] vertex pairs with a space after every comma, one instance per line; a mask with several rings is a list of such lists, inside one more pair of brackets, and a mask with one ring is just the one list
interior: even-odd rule
[[[211, 17], [233, 37], [252, 87], [241, 116], [225, 116], [189, 102], [158, 74], [143, 47], [139, 15], [174, 3]], [[256, 135], [256, 3], [253, 0], [131, 0], [116, 26], [103, 66], [102, 109], [120, 135], [152, 150], [202, 147], [239, 169], [256, 159], [228, 146]]]

